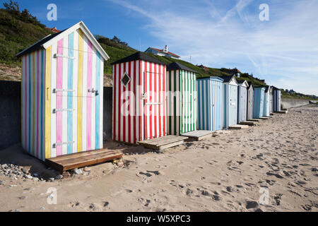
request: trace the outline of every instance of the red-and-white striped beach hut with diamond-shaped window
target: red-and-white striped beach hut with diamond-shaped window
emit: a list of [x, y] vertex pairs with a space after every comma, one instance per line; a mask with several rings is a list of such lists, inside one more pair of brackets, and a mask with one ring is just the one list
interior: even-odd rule
[[124, 143], [166, 131], [166, 66], [143, 52], [112, 63], [112, 138]]

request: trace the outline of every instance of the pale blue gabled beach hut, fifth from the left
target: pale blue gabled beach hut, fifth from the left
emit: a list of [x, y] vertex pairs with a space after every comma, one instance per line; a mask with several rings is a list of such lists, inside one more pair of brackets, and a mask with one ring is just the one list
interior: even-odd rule
[[222, 76], [224, 88], [223, 127], [237, 124], [237, 80], [235, 76]]

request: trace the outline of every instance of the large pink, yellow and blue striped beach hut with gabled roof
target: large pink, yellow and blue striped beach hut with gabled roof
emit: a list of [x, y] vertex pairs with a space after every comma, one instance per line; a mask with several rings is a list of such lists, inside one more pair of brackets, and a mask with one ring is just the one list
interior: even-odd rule
[[22, 146], [40, 160], [102, 148], [103, 64], [86, 25], [49, 35], [17, 54], [22, 72]]

